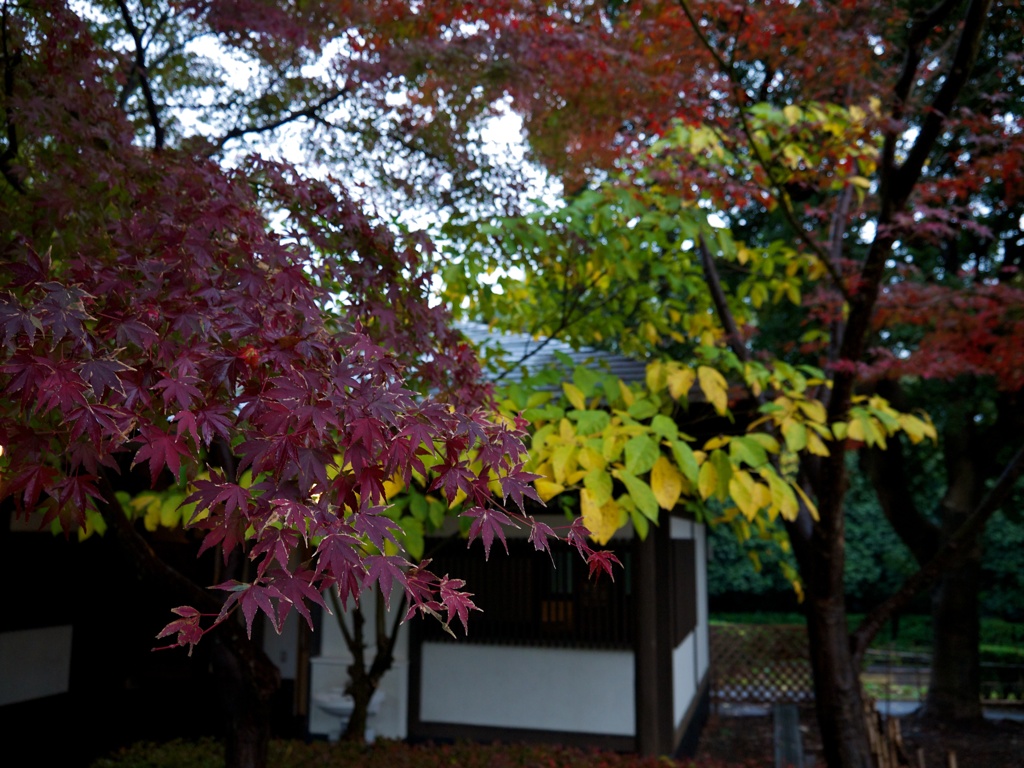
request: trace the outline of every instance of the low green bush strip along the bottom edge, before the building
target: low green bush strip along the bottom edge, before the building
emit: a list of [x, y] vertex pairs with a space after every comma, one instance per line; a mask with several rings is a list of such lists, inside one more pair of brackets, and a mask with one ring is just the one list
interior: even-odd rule
[[[742, 768], [740, 764], [640, 758], [609, 752], [527, 744], [418, 744], [379, 739], [358, 745], [272, 741], [271, 768]], [[91, 768], [223, 768], [212, 739], [163, 744], [140, 742], [94, 762]]]

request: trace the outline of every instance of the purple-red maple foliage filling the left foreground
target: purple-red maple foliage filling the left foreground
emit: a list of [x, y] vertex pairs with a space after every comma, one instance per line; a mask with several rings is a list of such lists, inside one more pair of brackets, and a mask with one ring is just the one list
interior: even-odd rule
[[[140, 145], [63, 3], [5, 4], [3, 44], [0, 495], [70, 531], [112, 524], [118, 490], [184, 484], [202, 549], [253, 564], [218, 585], [213, 624], [236, 608], [250, 631], [257, 611], [308, 621], [325, 590], [378, 586], [465, 626], [465, 585], [402, 555], [385, 483], [465, 500], [488, 550], [513, 517], [541, 549], [553, 531], [516, 512], [535, 494], [521, 425], [495, 418], [428, 301], [429, 244], [373, 223], [337, 181]], [[607, 565], [582, 528], [570, 539]], [[161, 635], [176, 644], [210, 628], [175, 613]]]

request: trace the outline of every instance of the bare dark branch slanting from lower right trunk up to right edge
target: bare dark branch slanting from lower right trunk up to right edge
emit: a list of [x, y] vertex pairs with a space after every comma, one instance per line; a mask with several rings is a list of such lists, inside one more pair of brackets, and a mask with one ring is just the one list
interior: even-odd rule
[[968, 515], [964, 524], [946, 540], [935, 556], [907, 579], [895, 594], [868, 613], [857, 627], [857, 630], [850, 637], [850, 648], [854, 655], [855, 665], [859, 667], [867, 646], [889, 617], [910, 602], [921, 590], [933, 584], [942, 570], [961, 555], [965, 548], [974, 543], [988, 519], [1010, 496], [1014, 484], [1022, 473], [1024, 473], [1024, 445], [1018, 449], [985, 498]]

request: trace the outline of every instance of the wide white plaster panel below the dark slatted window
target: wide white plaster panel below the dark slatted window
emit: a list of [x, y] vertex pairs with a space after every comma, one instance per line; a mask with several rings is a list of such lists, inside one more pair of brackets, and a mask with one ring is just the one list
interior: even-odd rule
[[425, 722], [632, 736], [631, 651], [424, 643]]

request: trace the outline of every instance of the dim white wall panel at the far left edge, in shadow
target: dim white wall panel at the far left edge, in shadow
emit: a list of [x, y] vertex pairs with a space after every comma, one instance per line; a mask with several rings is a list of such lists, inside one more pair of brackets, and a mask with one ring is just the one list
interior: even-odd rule
[[0, 705], [68, 691], [71, 625], [0, 632]]

